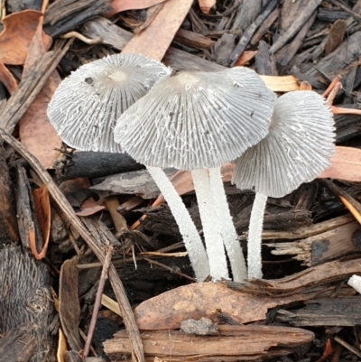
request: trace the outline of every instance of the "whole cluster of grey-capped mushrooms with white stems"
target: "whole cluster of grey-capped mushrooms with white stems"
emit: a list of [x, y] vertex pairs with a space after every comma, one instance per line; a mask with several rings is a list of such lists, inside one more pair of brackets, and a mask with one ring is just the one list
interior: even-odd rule
[[[329, 166], [334, 150], [333, 119], [322, 97], [302, 91], [277, 99], [255, 71], [243, 67], [171, 76], [169, 68], [140, 55], [109, 56], [65, 79], [48, 116], [70, 146], [126, 152], [147, 167], [180, 227], [199, 281], [208, 274], [213, 280], [229, 278], [227, 256], [233, 279], [247, 277], [222, 164], [236, 160], [236, 186], [257, 192], [248, 277], [262, 277], [267, 196], [282, 197], [315, 178]], [[162, 171], [166, 167], [191, 172], [206, 248]]]

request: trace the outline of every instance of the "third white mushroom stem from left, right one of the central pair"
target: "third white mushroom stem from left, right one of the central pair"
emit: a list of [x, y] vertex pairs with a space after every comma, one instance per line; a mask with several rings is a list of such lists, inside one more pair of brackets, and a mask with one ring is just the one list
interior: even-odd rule
[[223, 186], [220, 167], [209, 169], [210, 189], [212, 191], [219, 232], [226, 247], [229, 263], [231, 265], [233, 280], [242, 282], [247, 277], [245, 256], [239, 244], [236, 228], [233, 224], [227, 202], [226, 191]]

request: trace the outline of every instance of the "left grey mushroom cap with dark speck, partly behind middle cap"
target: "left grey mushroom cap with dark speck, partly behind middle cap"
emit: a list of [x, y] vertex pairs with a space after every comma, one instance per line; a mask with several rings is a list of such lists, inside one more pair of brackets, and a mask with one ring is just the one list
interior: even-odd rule
[[79, 67], [64, 79], [48, 107], [60, 138], [80, 151], [119, 153], [116, 120], [171, 69], [142, 55], [114, 54]]

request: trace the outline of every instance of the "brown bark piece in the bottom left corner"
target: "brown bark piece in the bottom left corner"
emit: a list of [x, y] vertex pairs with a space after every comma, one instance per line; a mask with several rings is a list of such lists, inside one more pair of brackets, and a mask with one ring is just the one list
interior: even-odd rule
[[0, 338], [0, 356], [6, 362], [28, 362], [36, 348], [32, 324], [9, 330]]

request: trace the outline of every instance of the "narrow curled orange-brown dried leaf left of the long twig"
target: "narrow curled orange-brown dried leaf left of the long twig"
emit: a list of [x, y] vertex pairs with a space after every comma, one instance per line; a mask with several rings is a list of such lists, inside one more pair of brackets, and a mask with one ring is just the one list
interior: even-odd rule
[[42, 231], [42, 250], [32, 250], [32, 254], [37, 260], [42, 259], [48, 249], [49, 237], [51, 235], [51, 201], [48, 189], [42, 185], [39, 189], [32, 191], [32, 198], [35, 204], [36, 217], [38, 218], [39, 227]]

